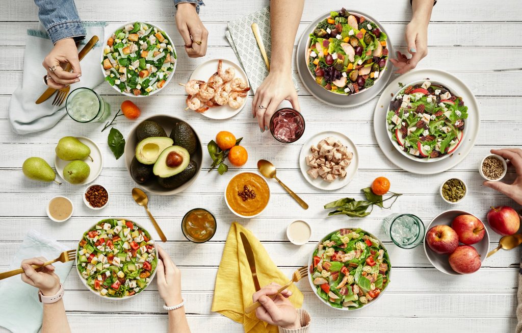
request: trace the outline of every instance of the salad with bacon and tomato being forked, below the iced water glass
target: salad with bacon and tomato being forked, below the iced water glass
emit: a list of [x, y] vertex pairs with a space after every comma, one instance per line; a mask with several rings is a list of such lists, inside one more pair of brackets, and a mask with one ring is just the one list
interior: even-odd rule
[[317, 246], [310, 275], [319, 297], [355, 310], [374, 301], [389, 283], [389, 256], [361, 229], [340, 229]]

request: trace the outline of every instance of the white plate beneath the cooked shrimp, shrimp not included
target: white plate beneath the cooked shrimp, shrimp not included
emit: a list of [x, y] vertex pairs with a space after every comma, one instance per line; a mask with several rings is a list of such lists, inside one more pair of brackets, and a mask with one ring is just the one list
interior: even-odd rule
[[[235, 77], [242, 78], [243, 80], [245, 80], [246, 85], [250, 87], [250, 85], [248, 84], [248, 78], [246, 77], [246, 74], [240, 65], [226, 59], [221, 59], [221, 61], [223, 62], [223, 69], [226, 69], [227, 67], [233, 67], [235, 69]], [[194, 69], [194, 72], [192, 73], [190, 80], [203, 80], [205, 82], [208, 81], [212, 74], [217, 72], [218, 62], [219, 59], [211, 59], [197, 66], [197, 68]], [[241, 105], [239, 109], [232, 109], [228, 104], [226, 104], [210, 108], [201, 114], [210, 119], [228, 119], [230, 117], [235, 116], [241, 110], [243, 110], [246, 104], [246, 100], [247, 98], [245, 97], [243, 105]]]

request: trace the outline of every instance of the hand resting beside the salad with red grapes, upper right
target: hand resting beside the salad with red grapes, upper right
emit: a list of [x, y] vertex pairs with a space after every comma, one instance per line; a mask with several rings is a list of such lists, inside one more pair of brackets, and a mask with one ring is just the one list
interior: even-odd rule
[[406, 27], [406, 41], [411, 58], [397, 51], [397, 59], [390, 58], [390, 62], [397, 67], [397, 74], [404, 74], [415, 68], [419, 61], [428, 55], [428, 22], [412, 19]]

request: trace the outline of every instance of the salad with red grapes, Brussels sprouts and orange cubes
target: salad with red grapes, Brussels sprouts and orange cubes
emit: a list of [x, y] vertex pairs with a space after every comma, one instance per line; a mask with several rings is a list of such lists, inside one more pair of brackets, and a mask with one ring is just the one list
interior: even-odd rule
[[315, 82], [350, 95], [368, 89], [382, 75], [388, 58], [387, 35], [367, 18], [342, 8], [317, 23], [306, 50]]

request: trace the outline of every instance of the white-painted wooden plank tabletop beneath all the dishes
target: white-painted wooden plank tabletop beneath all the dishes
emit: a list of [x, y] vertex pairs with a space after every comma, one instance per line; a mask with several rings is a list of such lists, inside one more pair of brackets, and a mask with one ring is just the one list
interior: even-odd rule
[[[184, 111], [185, 93], [176, 82], [186, 81], [192, 70], [208, 58], [228, 58], [236, 61], [224, 31], [227, 21], [239, 18], [269, 4], [268, 1], [207, 0], [200, 17], [209, 30], [209, 47], [205, 58], [190, 59], [183, 52], [183, 41], [175, 30], [175, 9], [171, 0], [78, 0], [76, 5], [83, 20], [124, 22], [145, 20], [165, 27], [174, 38], [179, 62], [173, 82], [156, 96], [135, 99], [144, 116], [168, 113], [185, 118], [199, 133], [204, 144], [218, 130], [230, 130], [243, 136], [249, 160], [241, 170], [254, 170], [256, 161], [266, 158], [279, 169], [280, 179], [310, 204], [304, 211], [274, 182], [270, 182], [273, 197], [262, 216], [241, 220], [265, 245], [275, 263], [288, 275], [306, 264], [316, 241], [331, 230], [341, 227], [361, 227], [377, 235], [387, 246], [393, 265], [392, 282], [377, 304], [358, 312], [331, 310], [316, 298], [308, 282], [298, 286], [305, 298], [303, 307], [313, 317], [313, 332], [338, 331], [343, 327], [361, 327], [365, 332], [441, 331], [445, 332], [508, 332], [516, 325], [517, 267], [519, 249], [500, 251], [485, 260], [483, 267], [470, 276], [449, 277], [433, 268], [422, 246], [402, 250], [394, 246], [381, 229], [382, 219], [389, 210], [375, 209], [362, 220], [346, 217], [327, 218], [323, 205], [329, 201], [358, 196], [360, 189], [369, 186], [377, 176], [386, 176], [392, 189], [404, 193], [392, 212], [414, 213], [425, 223], [438, 213], [454, 208], [438, 196], [438, 187], [448, 177], [458, 176], [469, 186], [469, 195], [456, 208], [470, 211], [483, 218], [491, 205], [512, 205], [513, 201], [482, 186], [477, 171], [480, 159], [492, 147], [521, 146], [522, 73], [496, 72], [495, 69], [520, 67], [522, 64], [522, 5], [519, 0], [495, 2], [443, 2], [435, 6], [429, 28], [429, 55], [420, 68], [448, 70], [469, 85], [480, 104], [481, 128], [476, 146], [469, 156], [452, 170], [433, 176], [414, 175], [398, 170], [379, 150], [372, 128], [373, 109], [377, 98], [356, 109], [340, 109], [324, 105], [314, 99], [304, 87], [299, 90], [300, 103], [306, 118], [304, 137], [295, 144], [282, 145], [269, 133], [259, 133], [252, 119], [250, 98], [248, 105], [228, 121], [211, 121]], [[375, 3], [375, 2], [374, 2]], [[390, 37], [404, 51], [404, 30], [411, 16], [407, 0], [378, 2], [381, 10], [371, 2], [359, 2], [357, 9], [371, 13], [380, 20]], [[349, 4], [333, 1], [331, 8]], [[323, 1], [307, 1], [301, 35], [307, 24], [327, 8]], [[106, 8], [113, 8], [110, 11]], [[105, 8], [105, 9], [104, 9]], [[355, 9], [355, 8], [354, 8]], [[107, 132], [100, 134], [102, 124], [79, 124], [68, 117], [53, 129], [42, 133], [19, 136], [11, 132], [7, 120], [10, 94], [22, 76], [26, 29], [37, 26], [37, 8], [31, 0], [3, 0], [0, 10], [0, 270], [5, 270], [29, 229], [52, 235], [56, 240], [76, 246], [76, 242], [91, 224], [105, 217], [127, 217], [149, 225], [156, 235], [143, 208], [134, 203], [131, 189], [136, 185], [129, 176], [123, 158], [115, 160], [106, 144]], [[491, 45], [494, 43], [493, 47]], [[256, 46], [252, 46], [256, 47]], [[392, 79], [395, 76], [392, 77]], [[118, 110], [124, 97], [109, 85], [96, 89]], [[118, 118], [116, 127], [126, 136], [135, 122]], [[303, 181], [298, 170], [301, 145], [314, 133], [326, 127], [346, 133], [358, 146], [361, 161], [355, 179], [335, 192], [320, 192]], [[82, 203], [84, 186], [64, 183], [43, 184], [26, 179], [21, 172], [22, 162], [30, 156], [40, 156], [52, 162], [54, 147], [64, 135], [87, 136], [96, 141], [104, 154], [104, 169], [97, 180], [112, 194], [109, 207], [92, 211]], [[206, 149], [204, 149], [205, 151]], [[186, 312], [194, 332], [241, 332], [242, 327], [232, 320], [210, 312], [216, 271], [229, 230], [235, 218], [223, 201], [227, 180], [238, 172], [231, 169], [226, 175], [207, 173], [210, 159], [204, 158], [204, 170], [196, 182], [183, 194], [150, 197], [150, 210], [161, 224], [169, 242], [162, 244], [183, 272], [183, 292], [187, 300]], [[507, 179], [513, 179], [511, 173]], [[74, 217], [60, 224], [45, 215], [45, 205], [54, 195], [65, 194], [75, 205]], [[184, 238], [180, 222], [184, 213], [194, 207], [211, 210], [218, 220], [217, 234], [205, 244], [193, 244]], [[313, 237], [309, 244], [294, 246], [288, 242], [285, 229], [296, 219], [309, 221]], [[490, 230], [491, 248], [499, 236]], [[101, 299], [86, 290], [75, 268], [65, 281], [65, 306], [73, 331], [84, 331], [93, 316], [109, 320], [111, 331], [165, 331], [167, 315], [157, 292], [156, 282], [138, 297], [126, 302]], [[371, 320], [368, 324], [368, 320]], [[132, 326], [128, 326], [131, 324]], [[361, 326], [355, 326], [361, 325]], [[362, 329], [364, 327], [364, 329]], [[130, 329], [129, 329], [130, 328]], [[354, 331], [360, 331], [354, 329]]]

